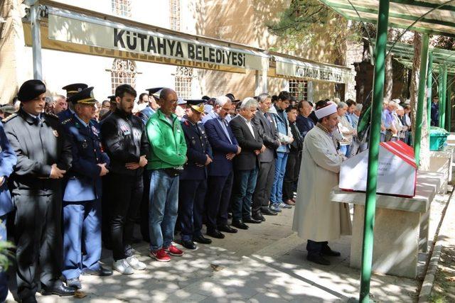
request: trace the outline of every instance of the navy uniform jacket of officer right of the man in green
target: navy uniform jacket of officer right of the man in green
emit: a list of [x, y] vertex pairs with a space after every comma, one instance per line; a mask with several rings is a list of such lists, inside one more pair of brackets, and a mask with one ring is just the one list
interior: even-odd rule
[[213, 160], [212, 148], [208, 143], [207, 133], [203, 123], [193, 124], [183, 117], [181, 121], [183, 135], [186, 141], [186, 157], [184, 170], [180, 180], [203, 180], [207, 178], [207, 155]]

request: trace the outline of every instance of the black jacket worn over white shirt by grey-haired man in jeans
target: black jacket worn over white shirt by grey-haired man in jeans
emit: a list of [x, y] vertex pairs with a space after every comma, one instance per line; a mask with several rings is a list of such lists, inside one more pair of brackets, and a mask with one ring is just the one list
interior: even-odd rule
[[255, 150], [262, 148], [262, 138], [259, 136], [255, 123], [251, 124], [255, 137], [252, 136], [250, 128], [248, 128], [242, 116], [236, 116], [229, 123], [232, 133], [234, 133], [240, 148], [242, 148], [240, 154], [234, 157], [235, 170], [254, 170], [256, 165], [259, 164]]

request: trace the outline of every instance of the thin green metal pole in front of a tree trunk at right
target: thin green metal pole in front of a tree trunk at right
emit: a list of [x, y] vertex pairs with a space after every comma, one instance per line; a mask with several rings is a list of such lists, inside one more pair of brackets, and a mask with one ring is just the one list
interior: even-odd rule
[[[418, 34], [416, 33], [416, 35]], [[425, 75], [427, 75], [428, 41], [428, 34], [424, 33], [422, 37], [422, 52], [420, 53], [419, 93], [417, 95], [417, 114], [414, 134], [414, 154], [417, 167], [419, 167], [420, 161], [420, 138], [422, 138], [422, 125], [424, 122], [423, 115], [425, 98]]]

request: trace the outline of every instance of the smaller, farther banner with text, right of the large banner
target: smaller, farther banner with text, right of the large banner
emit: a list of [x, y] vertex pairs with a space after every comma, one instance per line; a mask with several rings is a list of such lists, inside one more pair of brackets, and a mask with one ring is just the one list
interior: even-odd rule
[[275, 57], [275, 60], [277, 62], [277, 75], [336, 83], [348, 83], [353, 77], [353, 74], [347, 68], [316, 65], [311, 62], [281, 59], [278, 57]]

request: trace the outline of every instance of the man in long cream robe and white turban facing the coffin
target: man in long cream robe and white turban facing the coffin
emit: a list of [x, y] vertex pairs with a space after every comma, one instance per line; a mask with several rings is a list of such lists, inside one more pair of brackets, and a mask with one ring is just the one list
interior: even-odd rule
[[315, 111], [319, 119], [306, 134], [302, 150], [299, 184], [292, 230], [308, 240], [306, 259], [330, 265], [324, 256], [339, 256], [328, 241], [351, 232], [349, 207], [332, 203], [330, 191], [338, 184], [338, 172], [344, 156], [339, 155], [332, 138], [338, 124], [337, 106], [326, 103]]

